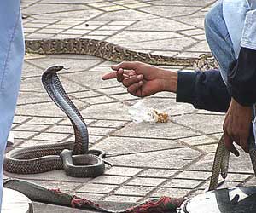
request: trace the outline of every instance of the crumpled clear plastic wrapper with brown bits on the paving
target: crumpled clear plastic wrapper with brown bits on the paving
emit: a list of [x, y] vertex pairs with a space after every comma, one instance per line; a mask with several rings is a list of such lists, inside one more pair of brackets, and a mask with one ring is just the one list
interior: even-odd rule
[[133, 122], [149, 122], [149, 123], [166, 123], [168, 122], [168, 113], [159, 112], [158, 110], [146, 107], [143, 101], [137, 102], [128, 109]]

